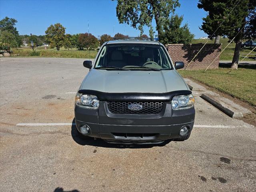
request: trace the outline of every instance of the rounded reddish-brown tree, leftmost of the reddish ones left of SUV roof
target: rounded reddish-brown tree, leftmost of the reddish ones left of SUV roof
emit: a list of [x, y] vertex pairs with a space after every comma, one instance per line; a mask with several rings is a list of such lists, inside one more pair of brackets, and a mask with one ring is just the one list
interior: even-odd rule
[[78, 36], [78, 44], [80, 44], [82, 48], [86, 48], [88, 50], [88, 48], [97, 48], [99, 42], [91, 33], [81, 33]]

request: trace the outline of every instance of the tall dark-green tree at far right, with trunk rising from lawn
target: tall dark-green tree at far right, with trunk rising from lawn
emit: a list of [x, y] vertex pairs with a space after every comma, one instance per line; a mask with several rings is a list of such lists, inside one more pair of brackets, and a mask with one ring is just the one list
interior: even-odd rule
[[201, 29], [209, 37], [218, 29], [214, 36], [227, 36], [230, 40], [234, 38], [236, 47], [231, 66], [234, 69], [238, 68], [242, 40], [255, 37], [255, 7], [255, 0], [199, 0], [198, 8], [208, 12]]

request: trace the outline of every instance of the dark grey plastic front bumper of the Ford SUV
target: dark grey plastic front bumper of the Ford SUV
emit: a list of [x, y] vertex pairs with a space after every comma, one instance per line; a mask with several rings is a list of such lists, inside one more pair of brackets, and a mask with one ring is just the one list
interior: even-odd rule
[[160, 143], [179, 138], [180, 129], [188, 126], [190, 132], [194, 125], [194, 108], [172, 110], [171, 102], [166, 102], [162, 112], [157, 115], [112, 114], [106, 102], [100, 102], [97, 110], [75, 105], [76, 127], [90, 127], [88, 136], [102, 138], [110, 143]]

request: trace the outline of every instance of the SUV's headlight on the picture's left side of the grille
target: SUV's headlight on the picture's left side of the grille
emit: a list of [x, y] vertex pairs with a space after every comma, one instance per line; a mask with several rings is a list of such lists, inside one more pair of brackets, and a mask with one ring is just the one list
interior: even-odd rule
[[76, 94], [76, 104], [84, 108], [98, 109], [100, 101], [95, 95]]

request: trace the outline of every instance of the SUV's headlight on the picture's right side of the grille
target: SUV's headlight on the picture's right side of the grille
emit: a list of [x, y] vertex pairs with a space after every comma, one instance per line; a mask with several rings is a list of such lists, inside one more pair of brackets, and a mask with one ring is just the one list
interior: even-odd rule
[[190, 95], [178, 95], [172, 98], [172, 108], [173, 109], [182, 109], [190, 108], [194, 106], [195, 99], [192, 94]]

